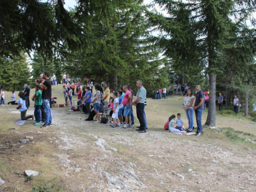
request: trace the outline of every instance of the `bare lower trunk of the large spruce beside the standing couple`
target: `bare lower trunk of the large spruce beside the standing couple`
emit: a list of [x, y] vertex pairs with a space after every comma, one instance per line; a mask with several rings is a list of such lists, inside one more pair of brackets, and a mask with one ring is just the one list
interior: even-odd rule
[[216, 74], [209, 73], [209, 109], [205, 124], [216, 126]]

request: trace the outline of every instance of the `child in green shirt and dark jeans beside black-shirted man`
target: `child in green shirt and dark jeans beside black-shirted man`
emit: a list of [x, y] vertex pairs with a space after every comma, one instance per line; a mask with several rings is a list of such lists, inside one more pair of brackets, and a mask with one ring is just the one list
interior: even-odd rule
[[36, 91], [36, 96], [35, 96], [35, 110], [34, 110], [34, 115], [35, 115], [35, 121], [36, 123], [34, 125], [39, 125], [41, 124], [41, 105], [42, 105], [42, 92], [41, 92], [41, 87], [39, 84], [35, 86], [35, 91]]

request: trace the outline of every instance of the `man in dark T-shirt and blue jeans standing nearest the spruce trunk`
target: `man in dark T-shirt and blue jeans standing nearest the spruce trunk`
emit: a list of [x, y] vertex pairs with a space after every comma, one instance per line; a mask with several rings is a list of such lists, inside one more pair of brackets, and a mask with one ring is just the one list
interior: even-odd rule
[[196, 86], [197, 94], [196, 94], [196, 101], [194, 105], [194, 110], [196, 114], [196, 119], [197, 119], [197, 134], [196, 136], [199, 136], [201, 132], [203, 131], [203, 126], [202, 126], [202, 115], [203, 115], [203, 110], [204, 110], [204, 93], [201, 90], [201, 84], [197, 84]]

